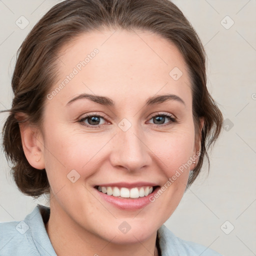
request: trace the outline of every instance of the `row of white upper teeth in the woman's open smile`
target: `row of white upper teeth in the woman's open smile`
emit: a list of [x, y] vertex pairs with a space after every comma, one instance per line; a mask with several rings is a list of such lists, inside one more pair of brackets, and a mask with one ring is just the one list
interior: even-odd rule
[[152, 186], [141, 186], [141, 187], [111, 187], [111, 186], [98, 186], [98, 191], [101, 191], [103, 193], [106, 193], [107, 195], [113, 195], [113, 196], [121, 196], [124, 198], [138, 198], [147, 196], [153, 191]]

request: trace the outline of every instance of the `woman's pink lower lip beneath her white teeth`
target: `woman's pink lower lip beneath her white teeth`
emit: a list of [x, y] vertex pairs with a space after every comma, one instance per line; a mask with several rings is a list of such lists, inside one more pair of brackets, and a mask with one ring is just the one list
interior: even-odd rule
[[134, 199], [128, 199], [128, 198], [121, 199], [121, 198], [118, 198], [113, 195], [107, 195], [105, 193], [102, 193], [102, 192], [98, 191], [97, 188], [95, 188], [95, 189], [97, 190], [99, 196], [102, 199], [111, 203], [115, 207], [117, 207], [119, 209], [125, 209], [125, 210], [136, 210], [136, 209], [143, 208], [148, 203], [150, 203], [151, 201], [149, 200], [149, 197], [152, 198], [152, 196], [154, 196], [154, 194], [157, 193], [157, 191], [160, 189], [160, 187], [156, 187], [154, 189], [154, 191], [152, 193], [148, 194], [147, 196], [138, 197], [138, 198], [134, 198]]

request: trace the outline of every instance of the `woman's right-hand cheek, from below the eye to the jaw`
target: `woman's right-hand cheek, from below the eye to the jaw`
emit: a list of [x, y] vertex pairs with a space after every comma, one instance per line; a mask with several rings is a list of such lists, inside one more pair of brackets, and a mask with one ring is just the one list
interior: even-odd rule
[[[191, 165], [194, 145], [193, 126], [161, 134], [151, 140], [151, 148], [158, 162], [159, 174], [164, 175], [161, 191], [152, 200], [158, 200], [159, 207], [170, 216], [183, 196]], [[158, 160], [157, 160], [158, 159]]]

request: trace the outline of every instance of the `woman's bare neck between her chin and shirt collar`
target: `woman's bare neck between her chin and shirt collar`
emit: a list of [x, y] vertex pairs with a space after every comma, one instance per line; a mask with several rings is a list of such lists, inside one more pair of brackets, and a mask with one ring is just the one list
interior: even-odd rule
[[160, 256], [156, 247], [155, 232], [147, 240], [120, 244], [86, 230], [74, 222], [62, 209], [50, 203], [50, 217], [45, 224], [51, 244], [58, 256]]

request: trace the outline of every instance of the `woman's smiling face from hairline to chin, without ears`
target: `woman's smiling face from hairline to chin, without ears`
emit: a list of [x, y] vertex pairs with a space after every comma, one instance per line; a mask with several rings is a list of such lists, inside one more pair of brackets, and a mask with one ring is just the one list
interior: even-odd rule
[[[94, 31], [61, 49], [57, 75], [41, 138], [51, 214], [116, 243], [147, 239], [177, 207], [198, 149], [181, 53], [149, 32]], [[142, 196], [146, 186], [165, 189]]]

